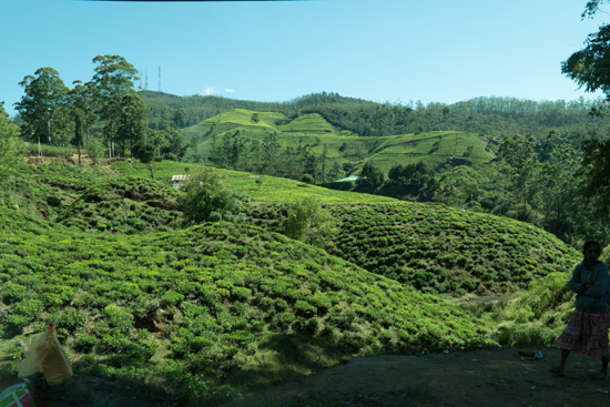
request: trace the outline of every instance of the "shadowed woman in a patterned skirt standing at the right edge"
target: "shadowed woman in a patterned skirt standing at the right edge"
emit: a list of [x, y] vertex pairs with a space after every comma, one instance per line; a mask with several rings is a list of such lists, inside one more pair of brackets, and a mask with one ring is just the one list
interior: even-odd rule
[[599, 261], [601, 246], [598, 242], [584, 243], [584, 261], [576, 266], [568, 283], [577, 293], [576, 311], [568, 327], [553, 345], [561, 348], [559, 366], [549, 372], [563, 376], [570, 352], [582, 352], [587, 356], [601, 356], [601, 369], [590, 377], [604, 379], [608, 376], [610, 346], [608, 344], [608, 298], [610, 298], [610, 274], [608, 266]]

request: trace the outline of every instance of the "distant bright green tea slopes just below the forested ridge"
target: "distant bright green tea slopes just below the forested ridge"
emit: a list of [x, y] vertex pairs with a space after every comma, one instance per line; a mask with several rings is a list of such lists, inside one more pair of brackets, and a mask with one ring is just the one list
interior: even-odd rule
[[352, 171], [358, 172], [364, 162], [372, 161], [385, 174], [396, 164], [416, 164], [420, 161], [440, 173], [455, 165], [466, 164], [486, 174], [485, 164], [495, 156], [499, 143], [496, 139], [478, 133], [456, 131], [362, 138], [333, 126], [317, 113], [289, 119], [282, 113], [243, 109], [217, 114], [184, 129], [183, 134], [201, 140], [199, 151], [210, 159], [214, 143], [212, 131], [217, 134], [216, 143], [221, 143], [225, 132], [237, 130], [246, 139], [258, 143], [263, 143], [268, 133], [276, 132], [282, 151], [308, 145], [314, 154], [321, 156], [326, 146], [328, 167], [334, 163], [347, 164]]

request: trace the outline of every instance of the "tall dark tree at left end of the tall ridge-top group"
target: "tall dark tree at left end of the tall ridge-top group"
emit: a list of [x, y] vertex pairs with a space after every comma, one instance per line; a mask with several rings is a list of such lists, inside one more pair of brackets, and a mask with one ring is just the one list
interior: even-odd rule
[[52, 143], [55, 115], [62, 108], [68, 88], [52, 68], [40, 68], [34, 75], [27, 75], [19, 82], [26, 94], [16, 103], [26, 123], [21, 131], [32, 142]]

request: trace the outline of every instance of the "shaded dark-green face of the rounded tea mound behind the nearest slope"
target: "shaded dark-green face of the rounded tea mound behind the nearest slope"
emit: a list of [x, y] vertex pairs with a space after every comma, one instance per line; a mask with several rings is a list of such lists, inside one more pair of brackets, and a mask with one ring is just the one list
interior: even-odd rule
[[[506, 217], [408, 202], [328, 210], [340, 222], [329, 254], [424, 292], [511, 292], [580, 260], [555, 235]], [[281, 231], [287, 211], [260, 205], [246, 222]]]

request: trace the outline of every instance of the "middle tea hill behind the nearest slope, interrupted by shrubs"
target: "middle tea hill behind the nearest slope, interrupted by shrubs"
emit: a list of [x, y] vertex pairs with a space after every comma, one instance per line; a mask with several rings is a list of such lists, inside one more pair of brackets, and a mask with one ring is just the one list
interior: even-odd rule
[[[54, 221], [81, 231], [111, 234], [167, 232], [180, 225], [173, 174], [194, 165], [115, 162], [113, 177], [90, 186], [91, 174], [70, 165], [28, 166], [4, 194], [45, 208]], [[119, 176], [123, 173], [123, 176]], [[226, 171], [226, 184], [251, 199], [246, 222], [283, 232], [288, 204], [315, 195], [339, 220], [328, 253], [423, 292], [462, 295], [504, 293], [525, 287], [549, 272], [571, 269], [579, 255], [553, 235], [506, 217], [443, 205], [327, 190], [293, 180]], [[19, 195], [21, 193], [22, 195]], [[30, 199], [26, 199], [29, 194]], [[58, 197], [60, 204], [48, 202]], [[28, 201], [26, 201], [28, 200]], [[273, 202], [273, 204], [271, 204]], [[40, 208], [32, 211], [40, 214]]]

